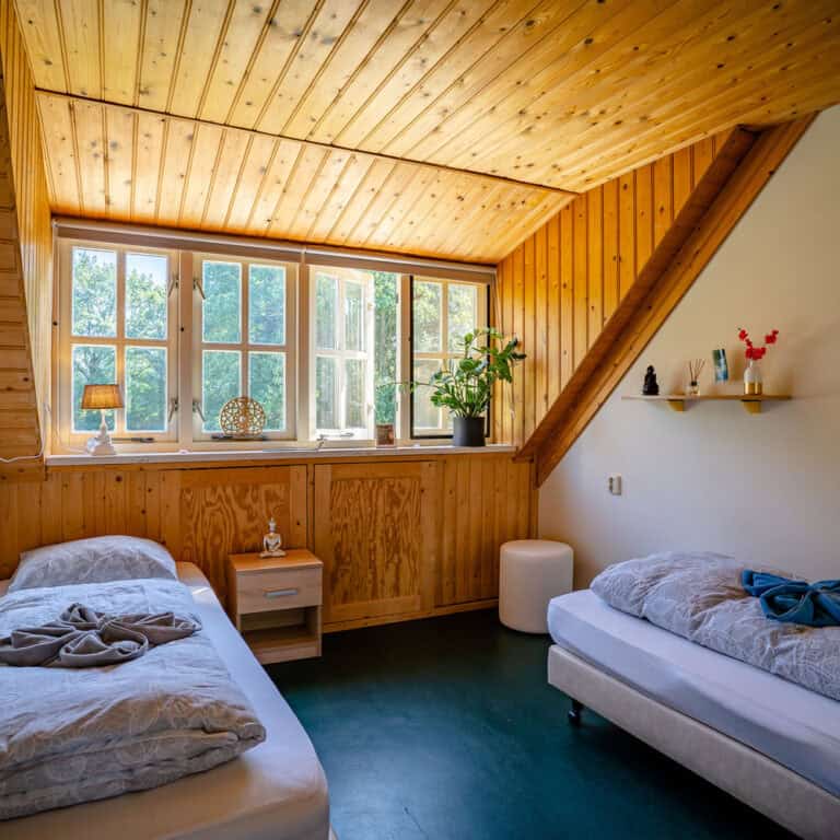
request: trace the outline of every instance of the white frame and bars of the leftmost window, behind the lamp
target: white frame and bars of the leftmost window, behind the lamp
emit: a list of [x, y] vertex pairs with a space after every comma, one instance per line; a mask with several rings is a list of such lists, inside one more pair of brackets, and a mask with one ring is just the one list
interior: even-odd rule
[[[73, 250], [101, 250], [116, 254], [117, 277], [117, 335], [114, 337], [75, 336], [73, 335], [72, 317], [72, 285], [73, 285]], [[126, 256], [129, 254], [149, 254], [162, 256], [167, 260], [167, 330], [166, 338], [142, 339], [127, 338], [125, 335], [126, 319]], [[112, 435], [115, 439], [151, 439], [152, 443], [172, 443], [177, 440], [177, 421], [174, 416], [173, 400], [178, 395], [178, 256], [177, 252], [166, 248], [138, 247], [108, 242], [91, 242], [83, 240], [62, 240], [58, 248], [59, 277], [58, 285], [58, 351], [56, 353], [57, 392], [54, 405], [58, 413], [58, 442], [67, 450], [83, 447], [95, 432], [73, 430], [73, 382], [72, 382], [72, 349], [73, 346], [114, 347], [116, 349], [116, 382], [120, 385], [122, 399], [127, 402], [126, 389], [126, 349], [127, 348], [162, 348], [166, 350], [166, 429], [126, 430], [127, 408], [115, 411], [115, 422]], [[117, 441], [119, 443], [119, 441]]]

